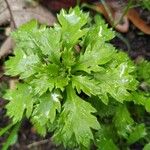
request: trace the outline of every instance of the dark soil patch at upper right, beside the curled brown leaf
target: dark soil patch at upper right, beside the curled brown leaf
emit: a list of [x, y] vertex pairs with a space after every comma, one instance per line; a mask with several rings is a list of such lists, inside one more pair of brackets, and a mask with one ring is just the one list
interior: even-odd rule
[[[150, 11], [137, 8], [141, 18], [150, 25]], [[127, 41], [128, 45], [120, 38], [112, 40], [113, 45], [124, 51], [127, 51], [132, 59], [144, 57], [150, 59], [150, 35], [142, 34], [133, 24], [130, 23], [129, 31], [121, 36]]]

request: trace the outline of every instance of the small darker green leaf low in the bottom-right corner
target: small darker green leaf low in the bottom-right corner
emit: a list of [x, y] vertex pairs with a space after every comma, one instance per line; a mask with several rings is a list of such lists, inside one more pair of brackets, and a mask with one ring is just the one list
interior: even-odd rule
[[128, 143], [133, 144], [139, 139], [145, 137], [147, 135], [145, 125], [144, 124], [139, 124], [134, 128], [134, 131], [131, 132], [128, 138]]

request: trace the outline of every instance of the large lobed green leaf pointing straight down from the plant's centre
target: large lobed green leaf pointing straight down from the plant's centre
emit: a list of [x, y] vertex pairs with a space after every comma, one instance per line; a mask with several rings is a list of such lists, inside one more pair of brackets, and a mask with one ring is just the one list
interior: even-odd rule
[[67, 146], [74, 137], [79, 145], [88, 148], [90, 141], [93, 140], [91, 128], [96, 130], [100, 128], [96, 117], [91, 114], [96, 110], [78, 97], [71, 86], [67, 88], [67, 99], [63, 107], [54, 140]]

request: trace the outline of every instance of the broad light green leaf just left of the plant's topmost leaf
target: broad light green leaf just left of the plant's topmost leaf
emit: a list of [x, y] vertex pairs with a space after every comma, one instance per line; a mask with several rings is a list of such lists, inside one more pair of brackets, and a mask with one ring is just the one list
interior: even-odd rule
[[39, 48], [44, 55], [48, 55], [50, 62], [59, 64], [61, 55], [61, 33], [59, 31], [43, 27], [31, 32], [29, 36], [29, 40], [35, 44], [35, 47]]

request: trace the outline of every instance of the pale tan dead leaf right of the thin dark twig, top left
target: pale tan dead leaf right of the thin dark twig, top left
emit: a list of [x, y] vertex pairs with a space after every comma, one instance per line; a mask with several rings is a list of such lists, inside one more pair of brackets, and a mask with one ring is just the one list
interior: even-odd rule
[[37, 19], [40, 23], [52, 25], [55, 17], [41, 5], [32, 7], [25, 0], [4, 0], [8, 6], [11, 20], [17, 28], [31, 19]]

